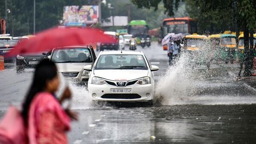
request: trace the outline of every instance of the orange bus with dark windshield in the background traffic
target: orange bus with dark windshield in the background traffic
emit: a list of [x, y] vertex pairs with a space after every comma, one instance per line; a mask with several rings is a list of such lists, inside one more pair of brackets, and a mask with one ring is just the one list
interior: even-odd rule
[[[161, 38], [168, 33], [193, 34], [197, 32], [197, 23], [190, 17], [166, 18], [161, 25]], [[167, 46], [163, 46], [163, 50], [167, 50]]]

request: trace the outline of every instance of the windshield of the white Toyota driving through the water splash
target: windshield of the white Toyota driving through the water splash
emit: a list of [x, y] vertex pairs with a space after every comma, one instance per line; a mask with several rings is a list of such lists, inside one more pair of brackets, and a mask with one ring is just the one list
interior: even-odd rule
[[100, 55], [95, 69], [148, 69], [143, 55]]

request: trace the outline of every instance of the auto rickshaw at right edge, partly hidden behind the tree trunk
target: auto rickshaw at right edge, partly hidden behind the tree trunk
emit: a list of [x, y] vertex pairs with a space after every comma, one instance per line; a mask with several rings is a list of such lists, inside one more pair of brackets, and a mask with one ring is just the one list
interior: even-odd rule
[[[256, 43], [256, 34], [253, 34], [253, 47]], [[254, 50], [254, 56], [256, 56], [256, 50]], [[238, 58], [239, 61], [243, 61], [244, 59], [244, 34], [239, 35], [238, 37]]]

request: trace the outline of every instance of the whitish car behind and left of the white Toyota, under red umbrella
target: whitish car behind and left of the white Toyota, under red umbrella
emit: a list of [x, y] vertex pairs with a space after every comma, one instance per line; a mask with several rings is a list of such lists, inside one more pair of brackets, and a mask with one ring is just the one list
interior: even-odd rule
[[48, 57], [56, 63], [58, 73], [70, 82], [84, 84], [89, 79], [90, 71], [84, 66], [92, 66], [96, 60], [92, 46], [70, 46], [52, 50]]

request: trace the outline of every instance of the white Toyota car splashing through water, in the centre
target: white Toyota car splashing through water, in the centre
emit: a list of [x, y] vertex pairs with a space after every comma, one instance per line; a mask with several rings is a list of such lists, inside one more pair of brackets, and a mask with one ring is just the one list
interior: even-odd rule
[[99, 53], [88, 80], [94, 101], [137, 102], [154, 98], [154, 73], [143, 52], [103, 51]]

